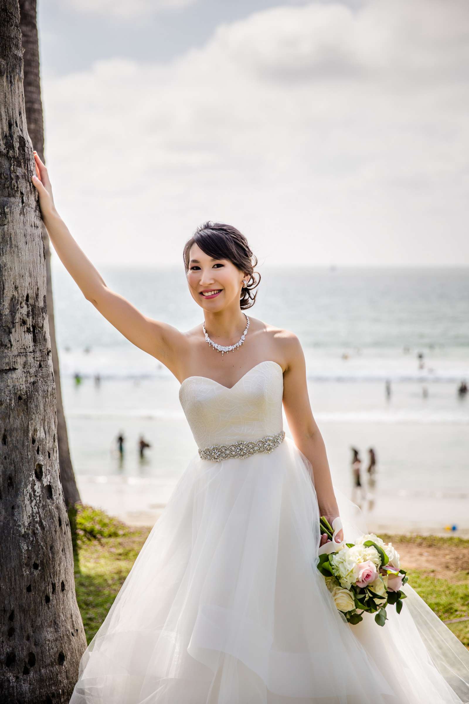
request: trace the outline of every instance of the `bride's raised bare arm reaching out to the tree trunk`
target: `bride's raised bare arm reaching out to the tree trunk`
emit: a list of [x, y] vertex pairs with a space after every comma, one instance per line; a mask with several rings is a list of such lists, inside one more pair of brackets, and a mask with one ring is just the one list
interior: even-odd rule
[[[32, 182], [39, 192], [42, 220], [53, 248], [86, 300], [91, 301], [101, 315], [134, 345], [167, 367], [174, 366], [178, 353], [184, 346], [184, 335], [172, 325], [143, 315], [123, 296], [106, 286], [103, 277], [79, 248], [65, 222], [58, 215], [46, 166], [36, 152], [34, 159], [37, 175], [32, 177]], [[172, 371], [174, 373], [174, 370]]]

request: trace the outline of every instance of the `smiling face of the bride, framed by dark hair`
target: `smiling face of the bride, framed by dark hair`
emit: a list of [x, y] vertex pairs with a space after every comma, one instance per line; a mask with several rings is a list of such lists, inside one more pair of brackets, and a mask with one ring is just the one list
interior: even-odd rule
[[[212, 259], [198, 244], [191, 246], [187, 282], [194, 301], [205, 310], [217, 311], [239, 303], [243, 272], [229, 259]], [[205, 291], [209, 296], [204, 296]], [[210, 295], [210, 291], [219, 291]]]

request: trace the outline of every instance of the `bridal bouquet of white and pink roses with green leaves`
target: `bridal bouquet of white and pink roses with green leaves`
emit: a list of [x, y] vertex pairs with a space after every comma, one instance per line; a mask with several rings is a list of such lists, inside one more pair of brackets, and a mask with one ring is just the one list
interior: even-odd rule
[[408, 577], [400, 568], [399, 553], [392, 543], [373, 533], [362, 535], [355, 543], [335, 542], [335, 534], [342, 527], [339, 518], [332, 527], [321, 516], [320, 526], [321, 535], [326, 533], [332, 543], [319, 548], [318, 569], [326, 578], [336, 607], [351, 624], [362, 621], [366, 611], [374, 613], [375, 622], [384, 626], [387, 605], [395, 605], [399, 614], [406, 598], [401, 586]]

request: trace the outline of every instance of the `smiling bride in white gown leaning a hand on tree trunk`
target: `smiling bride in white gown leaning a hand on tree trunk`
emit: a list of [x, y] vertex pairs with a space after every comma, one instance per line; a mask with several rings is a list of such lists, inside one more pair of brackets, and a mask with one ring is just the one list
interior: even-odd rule
[[368, 614], [351, 626], [316, 569], [320, 515], [340, 515], [349, 540], [366, 527], [333, 488], [299, 339], [245, 313], [259, 279], [243, 234], [207, 222], [186, 243], [204, 322], [179, 332], [108, 289], [34, 158], [60, 260], [86, 300], [181, 382], [198, 446], [82, 655], [70, 704], [468, 702], [469, 653], [409, 584], [384, 627]]

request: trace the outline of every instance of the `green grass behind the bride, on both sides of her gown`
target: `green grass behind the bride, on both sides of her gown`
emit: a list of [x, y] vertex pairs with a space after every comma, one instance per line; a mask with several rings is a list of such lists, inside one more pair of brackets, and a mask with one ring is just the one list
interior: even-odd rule
[[[75, 589], [87, 643], [105, 619], [149, 532], [150, 528], [128, 527], [89, 506], [78, 510]], [[382, 537], [393, 543], [407, 540], [404, 536]], [[461, 541], [458, 546], [469, 546], [469, 540], [461, 538], [409, 538], [416, 540], [428, 551], [446, 546], [448, 541]], [[410, 584], [442, 620], [469, 615], [468, 572], [455, 572], [451, 581], [419, 570], [409, 570], [408, 574]], [[449, 624], [449, 628], [469, 647], [469, 622]]]

